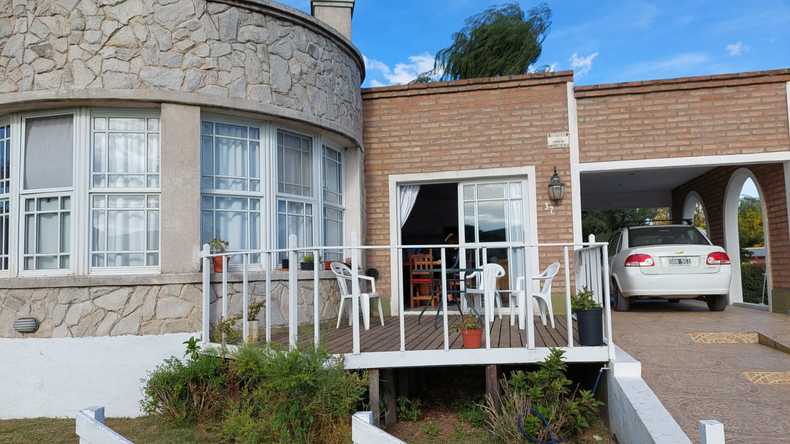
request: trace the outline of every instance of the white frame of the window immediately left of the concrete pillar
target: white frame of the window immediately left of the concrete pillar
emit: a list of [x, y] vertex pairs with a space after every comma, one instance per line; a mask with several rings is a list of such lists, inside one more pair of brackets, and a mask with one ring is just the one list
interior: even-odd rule
[[[148, 187], [148, 176], [150, 175], [148, 172], [148, 149], [146, 145], [146, 152], [145, 152], [145, 165], [146, 171], [142, 173], [145, 177], [145, 187], [138, 187], [138, 188], [113, 188], [109, 186], [104, 187], [93, 187], [93, 153], [94, 153], [94, 119], [96, 118], [105, 118], [107, 119], [107, 129], [104, 130], [105, 133], [109, 133], [109, 119], [111, 117], [116, 118], [134, 118], [134, 119], [145, 119], [146, 125], [146, 144], [148, 143], [148, 119], [157, 119], [159, 121], [159, 130], [156, 131], [159, 134], [159, 186], [156, 187]], [[85, 174], [86, 179], [86, 200], [85, 200], [85, 210], [84, 213], [86, 215], [86, 223], [85, 227], [87, 228], [87, 232], [84, 233], [85, 237], [85, 245], [86, 248], [84, 260], [85, 266], [88, 269], [88, 274], [91, 275], [126, 275], [126, 274], [159, 274], [162, 268], [162, 118], [161, 113], [159, 110], [153, 109], [140, 109], [140, 110], [130, 110], [130, 109], [115, 109], [115, 108], [97, 108], [90, 110], [88, 116], [87, 127], [84, 128], [87, 131], [87, 139], [88, 139], [88, 152], [87, 152], [87, 174]], [[107, 150], [109, 153], [109, 138], [106, 141], [107, 143]], [[109, 154], [108, 154], [109, 155]], [[109, 164], [107, 165], [109, 168]], [[102, 174], [102, 173], [99, 173]], [[105, 175], [109, 175], [109, 173], [103, 173]], [[109, 183], [109, 181], [108, 181]], [[124, 266], [124, 267], [94, 267], [92, 265], [92, 254], [93, 254], [93, 196], [95, 195], [127, 195], [127, 196], [143, 196], [146, 199], [148, 196], [156, 196], [159, 198], [159, 239], [157, 244], [159, 249], [156, 250], [156, 253], [159, 255], [157, 265], [144, 265], [144, 266]], [[106, 208], [105, 208], [106, 209]], [[148, 208], [143, 209], [146, 213], [146, 228], [147, 228], [147, 217], [148, 217]], [[146, 230], [146, 242], [148, 239], [148, 231]], [[146, 245], [147, 247], [147, 245]], [[149, 251], [146, 248], [146, 254], [152, 252], [153, 250]]]

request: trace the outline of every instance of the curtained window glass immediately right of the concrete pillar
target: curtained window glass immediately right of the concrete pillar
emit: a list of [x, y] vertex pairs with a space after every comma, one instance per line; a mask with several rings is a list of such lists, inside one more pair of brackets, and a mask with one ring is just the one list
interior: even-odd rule
[[201, 124], [203, 243], [222, 239], [230, 250], [261, 248], [265, 194], [260, 140], [258, 127]]

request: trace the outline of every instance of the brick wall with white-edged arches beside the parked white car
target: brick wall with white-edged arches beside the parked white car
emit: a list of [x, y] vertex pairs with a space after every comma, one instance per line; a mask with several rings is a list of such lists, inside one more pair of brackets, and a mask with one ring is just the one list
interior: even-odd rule
[[[788, 232], [784, 168], [780, 163], [743, 167], [748, 168], [754, 174], [764, 193], [761, 198], [765, 200], [768, 212], [768, 248], [773, 287], [775, 289], [790, 289], [790, 234]], [[719, 167], [676, 188], [672, 193], [672, 213], [681, 215], [686, 196], [691, 191], [696, 191], [702, 197], [707, 212], [711, 240], [715, 244], [723, 246], [725, 193], [732, 173], [738, 168], [741, 166]], [[775, 292], [774, 305], [781, 305], [779, 302]], [[781, 302], [790, 306], [786, 303], [790, 301]]]

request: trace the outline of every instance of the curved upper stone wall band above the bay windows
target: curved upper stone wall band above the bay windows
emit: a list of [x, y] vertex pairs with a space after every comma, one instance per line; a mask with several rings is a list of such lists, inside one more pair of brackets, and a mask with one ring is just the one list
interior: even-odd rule
[[248, 3], [0, 0], [0, 103], [172, 97], [298, 118], [361, 141], [356, 50], [309, 16]]

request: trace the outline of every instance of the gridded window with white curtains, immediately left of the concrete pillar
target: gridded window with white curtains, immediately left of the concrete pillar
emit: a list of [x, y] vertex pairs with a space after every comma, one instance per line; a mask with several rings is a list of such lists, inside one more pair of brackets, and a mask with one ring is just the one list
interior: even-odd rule
[[92, 118], [90, 267], [159, 266], [159, 119]]

